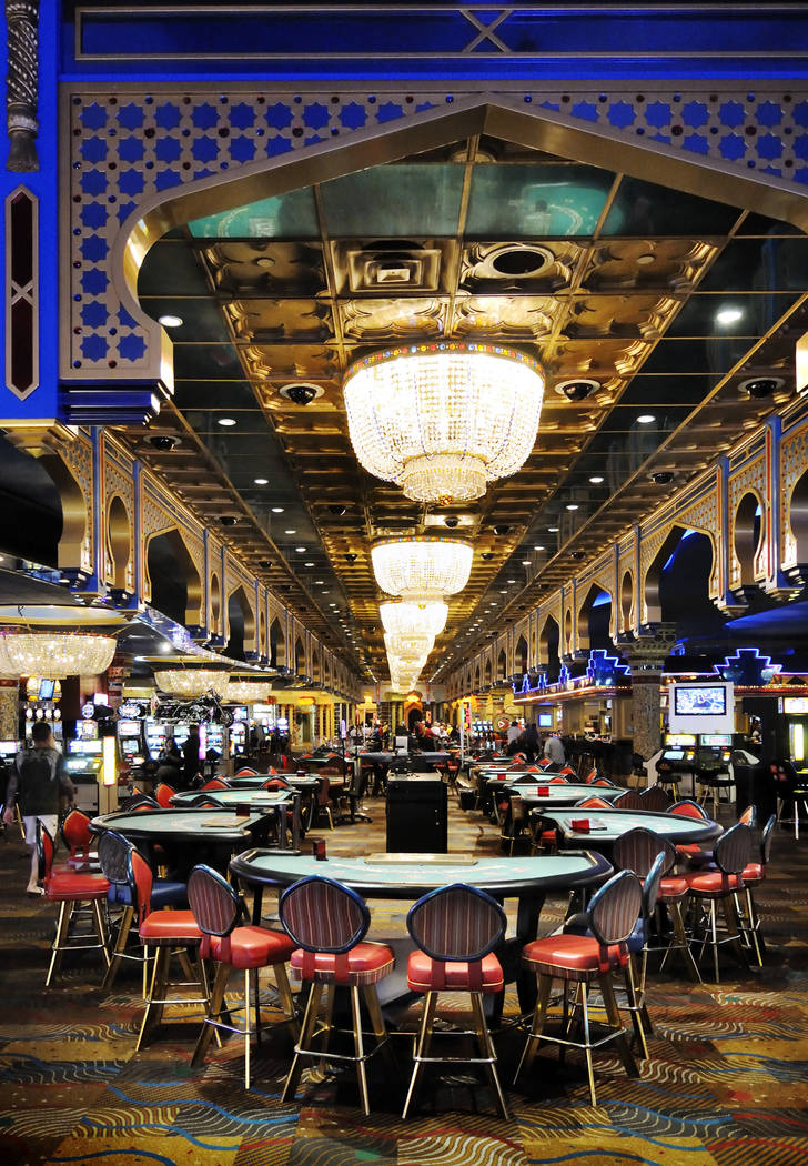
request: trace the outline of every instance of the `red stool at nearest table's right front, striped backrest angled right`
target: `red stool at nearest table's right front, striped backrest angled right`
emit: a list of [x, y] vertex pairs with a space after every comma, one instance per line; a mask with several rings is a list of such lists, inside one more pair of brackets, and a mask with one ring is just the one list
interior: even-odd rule
[[[625, 1028], [620, 1023], [620, 1013], [614, 999], [611, 972], [624, 970], [630, 1006], [637, 1007], [634, 982], [628, 958], [626, 941], [637, 926], [642, 907], [642, 886], [637, 874], [620, 871], [593, 895], [586, 914], [588, 930], [591, 935], [550, 935], [548, 939], [534, 940], [522, 950], [524, 965], [536, 974], [539, 997], [533, 1023], [528, 1033], [525, 1051], [517, 1068], [514, 1084], [522, 1069], [529, 1069], [535, 1058], [539, 1042], [551, 1041], [564, 1048], [582, 1048], [586, 1056], [589, 1074], [589, 1093], [592, 1105], [597, 1105], [595, 1091], [595, 1074], [592, 1070], [592, 1049], [607, 1041], [616, 1041], [620, 1060], [628, 1076], [639, 1075], [637, 1062], [632, 1056]], [[581, 993], [583, 1040], [575, 1041], [569, 1037], [549, 1037], [544, 1032], [550, 989], [554, 981], [561, 981], [564, 1000], [569, 985], [575, 984]], [[589, 991], [592, 984], [598, 984], [609, 1019], [609, 1028], [604, 1035], [592, 1039], [589, 1016]], [[576, 1005], [577, 1006], [577, 1005]], [[567, 1016], [567, 1004], [564, 1004]], [[564, 1031], [568, 1031], [569, 1026]]]

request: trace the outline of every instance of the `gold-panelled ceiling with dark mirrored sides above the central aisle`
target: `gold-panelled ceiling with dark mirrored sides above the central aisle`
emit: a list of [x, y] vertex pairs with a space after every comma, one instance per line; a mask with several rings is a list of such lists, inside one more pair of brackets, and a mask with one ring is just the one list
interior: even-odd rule
[[[600, 549], [793, 392], [806, 246], [730, 205], [471, 138], [166, 236], [139, 294], [182, 321], [155, 427], [178, 441], [132, 438], [211, 521], [234, 519], [227, 536], [257, 570], [379, 679], [370, 548], [457, 519], [475, 563], [429, 676], [461, 630], [472, 645], [528, 610], [570, 555]], [[368, 477], [342, 402], [358, 357], [438, 337], [521, 346], [548, 379], [528, 462], [462, 508]]]

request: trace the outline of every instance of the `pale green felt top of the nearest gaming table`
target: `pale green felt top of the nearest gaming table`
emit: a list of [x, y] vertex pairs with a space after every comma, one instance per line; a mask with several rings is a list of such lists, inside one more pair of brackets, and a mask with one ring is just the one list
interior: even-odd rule
[[449, 883], [470, 883], [493, 894], [520, 895], [550, 887], [586, 886], [611, 873], [611, 866], [597, 854], [567, 851], [538, 858], [478, 858], [452, 864], [451, 855], [438, 862], [408, 856], [403, 862], [368, 862], [365, 858], [328, 858], [311, 855], [283, 855], [275, 851], [244, 851], [231, 862], [231, 870], [247, 883], [288, 886], [309, 874], [332, 878], [363, 894], [381, 898], [417, 898]]

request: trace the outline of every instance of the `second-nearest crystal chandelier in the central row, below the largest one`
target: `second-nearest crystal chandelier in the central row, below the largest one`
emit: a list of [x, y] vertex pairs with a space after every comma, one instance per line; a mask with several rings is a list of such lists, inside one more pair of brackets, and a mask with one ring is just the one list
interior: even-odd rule
[[387, 539], [371, 549], [381, 590], [416, 603], [462, 591], [472, 557], [471, 543], [459, 539]]

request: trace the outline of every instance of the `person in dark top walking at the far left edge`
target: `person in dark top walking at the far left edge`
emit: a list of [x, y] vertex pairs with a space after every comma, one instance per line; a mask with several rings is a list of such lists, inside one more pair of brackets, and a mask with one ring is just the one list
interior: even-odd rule
[[36, 854], [36, 823], [43, 827], [56, 840], [59, 816], [59, 798], [64, 795], [68, 805], [76, 799], [73, 784], [65, 773], [62, 754], [54, 744], [49, 725], [37, 721], [31, 730], [33, 747], [17, 753], [14, 768], [8, 779], [6, 793], [6, 810], [3, 821], [7, 826], [14, 822], [14, 806], [20, 802], [20, 813], [26, 827], [26, 844], [30, 847], [30, 873], [28, 876], [28, 894], [44, 894], [38, 885], [38, 858]]

